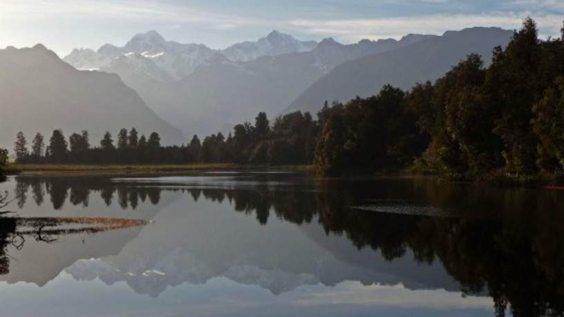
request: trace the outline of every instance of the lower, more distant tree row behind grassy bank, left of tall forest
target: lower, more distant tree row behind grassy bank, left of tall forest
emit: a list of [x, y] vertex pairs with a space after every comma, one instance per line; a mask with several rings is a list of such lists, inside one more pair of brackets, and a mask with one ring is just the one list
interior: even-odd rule
[[189, 144], [161, 146], [158, 133], [139, 136], [135, 128], [122, 128], [114, 140], [106, 132], [100, 145], [91, 146], [88, 131], [73, 133], [68, 140], [55, 130], [48, 144], [37, 133], [28, 149], [23, 133], [14, 143], [16, 162], [96, 164], [181, 164], [193, 162], [239, 164], [304, 164], [312, 161], [318, 124], [309, 113], [277, 117], [272, 126], [265, 113], [255, 124], [237, 124], [227, 137], [212, 134], [200, 142], [194, 135]]

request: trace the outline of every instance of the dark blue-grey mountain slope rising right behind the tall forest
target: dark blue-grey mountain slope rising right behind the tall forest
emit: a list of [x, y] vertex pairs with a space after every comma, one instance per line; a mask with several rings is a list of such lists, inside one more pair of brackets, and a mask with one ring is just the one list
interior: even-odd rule
[[441, 37], [404, 37], [413, 43], [345, 62], [324, 75], [290, 104], [285, 113], [316, 113], [323, 102], [346, 102], [356, 96], [375, 95], [385, 84], [411, 88], [416, 82], [434, 81], [470, 53], [482, 55], [486, 64], [495, 46], [506, 46], [512, 31], [500, 28], [467, 28]]

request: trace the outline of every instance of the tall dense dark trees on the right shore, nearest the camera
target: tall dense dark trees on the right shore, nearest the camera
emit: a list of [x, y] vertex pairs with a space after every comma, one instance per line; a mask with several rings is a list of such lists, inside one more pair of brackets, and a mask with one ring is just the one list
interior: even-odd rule
[[561, 177], [564, 42], [541, 41], [527, 18], [505, 49], [494, 48], [487, 68], [469, 55], [434, 84], [407, 93], [386, 86], [376, 97], [324, 108], [319, 120], [323, 169], [411, 162], [450, 179]]

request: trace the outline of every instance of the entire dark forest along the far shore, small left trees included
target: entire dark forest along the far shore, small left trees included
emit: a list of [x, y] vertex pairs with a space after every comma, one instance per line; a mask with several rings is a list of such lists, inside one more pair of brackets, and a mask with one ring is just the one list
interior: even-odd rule
[[[562, 29], [564, 35], [564, 28]], [[88, 132], [68, 142], [55, 130], [35, 135], [28, 150], [17, 135], [17, 162], [164, 164], [315, 164], [326, 173], [429, 173], [449, 180], [564, 176], [564, 42], [541, 40], [527, 18], [489, 66], [478, 55], [431, 83], [404, 91], [384, 86], [373, 97], [326, 102], [310, 113], [265, 113], [227, 137], [161, 146], [157, 133], [123, 128], [91, 146]], [[0, 153], [0, 164], [6, 153]]]

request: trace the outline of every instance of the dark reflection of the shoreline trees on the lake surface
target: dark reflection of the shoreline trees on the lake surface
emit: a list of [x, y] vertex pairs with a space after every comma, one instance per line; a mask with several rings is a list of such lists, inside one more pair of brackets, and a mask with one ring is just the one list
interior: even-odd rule
[[[182, 191], [194, 201], [231, 204], [261, 225], [272, 216], [297, 225], [319, 222], [326, 234], [344, 236], [358, 249], [379, 251], [389, 261], [410, 251], [422, 265], [442, 262], [465, 294], [487, 292], [498, 316], [507, 309], [514, 316], [564, 313], [564, 195], [558, 192], [440, 186], [425, 179], [327, 180], [306, 190], [273, 190], [267, 182], [241, 189], [138, 186], [84, 177], [18, 177], [17, 182], [18, 204], [29, 203], [25, 196], [31, 186], [35, 203], [48, 194], [54, 209], [67, 199], [87, 206], [91, 192], [100, 192], [108, 206], [137, 209], [159, 204], [162, 191]], [[354, 208], [365, 204], [373, 210]], [[16, 227], [6, 222], [0, 233], [1, 261], [8, 261], [6, 243]]]

